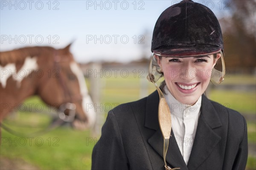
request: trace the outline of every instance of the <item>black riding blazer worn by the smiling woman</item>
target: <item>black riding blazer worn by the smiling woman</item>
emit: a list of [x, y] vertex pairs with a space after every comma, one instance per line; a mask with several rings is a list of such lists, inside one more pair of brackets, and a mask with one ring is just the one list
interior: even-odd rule
[[[158, 124], [159, 95], [121, 104], [108, 113], [93, 148], [92, 170], [164, 170], [163, 137]], [[186, 165], [173, 132], [166, 155], [181, 170], [244, 170], [247, 126], [239, 112], [202, 96], [195, 140]]]

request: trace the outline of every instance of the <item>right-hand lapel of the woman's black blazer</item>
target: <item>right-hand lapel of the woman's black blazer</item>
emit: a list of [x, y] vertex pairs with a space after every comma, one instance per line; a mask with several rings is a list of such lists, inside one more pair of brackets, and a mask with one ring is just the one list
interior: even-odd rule
[[221, 137], [214, 132], [214, 129], [221, 126], [221, 121], [211, 101], [202, 95], [201, 114], [187, 165], [189, 169], [197, 169], [220, 142]]

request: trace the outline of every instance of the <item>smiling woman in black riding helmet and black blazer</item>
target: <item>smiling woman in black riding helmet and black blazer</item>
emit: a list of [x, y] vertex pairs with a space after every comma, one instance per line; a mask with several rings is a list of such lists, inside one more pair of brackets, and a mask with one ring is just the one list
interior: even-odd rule
[[204, 95], [210, 81], [224, 80], [223, 51], [221, 28], [209, 8], [192, 0], [167, 8], [151, 44], [148, 80], [157, 91], [108, 113], [92, 169], [245, 169], [244, 117]]

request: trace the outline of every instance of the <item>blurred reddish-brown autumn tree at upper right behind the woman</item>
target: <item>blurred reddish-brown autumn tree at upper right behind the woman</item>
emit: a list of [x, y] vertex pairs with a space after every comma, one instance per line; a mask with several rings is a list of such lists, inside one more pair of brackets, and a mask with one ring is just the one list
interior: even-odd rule
[[227, 69], [256, 67], [256, 0], [230, 0], [230, 17], [220, 20]]

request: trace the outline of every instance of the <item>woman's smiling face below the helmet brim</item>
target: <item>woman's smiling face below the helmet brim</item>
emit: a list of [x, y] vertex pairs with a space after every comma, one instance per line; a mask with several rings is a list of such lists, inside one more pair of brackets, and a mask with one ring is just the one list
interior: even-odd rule
[[188, 58], [157, 58], [171, 94], [180, 103], [193, 105], [206, 90], [220, 54]]

